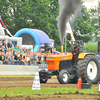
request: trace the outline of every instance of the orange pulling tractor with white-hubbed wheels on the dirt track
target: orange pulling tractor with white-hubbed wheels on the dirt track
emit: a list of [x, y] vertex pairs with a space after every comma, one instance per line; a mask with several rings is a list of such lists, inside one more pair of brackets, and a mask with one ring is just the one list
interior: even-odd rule
[[[78, 42], [78, 48], [80, 43]], [[93, 53], [79, 53], [77, 65], [72, 64], [73, 55], [47, 56], [47, 68], [39, 71], [40, 82], [46, 83], [52, 76], [57, 76], [61, 84], [76, 83], [79, 76], [82, 82], [97, 83], [100, 79], [99, 61]]]

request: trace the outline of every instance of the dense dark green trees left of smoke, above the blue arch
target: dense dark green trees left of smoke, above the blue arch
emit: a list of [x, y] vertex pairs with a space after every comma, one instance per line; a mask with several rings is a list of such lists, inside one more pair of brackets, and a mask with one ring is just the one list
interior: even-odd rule
[[0, 15], [14, 35], [22, 28], [40, 29], [60, 44], [56, 18], [58, 0], [0, 0]]

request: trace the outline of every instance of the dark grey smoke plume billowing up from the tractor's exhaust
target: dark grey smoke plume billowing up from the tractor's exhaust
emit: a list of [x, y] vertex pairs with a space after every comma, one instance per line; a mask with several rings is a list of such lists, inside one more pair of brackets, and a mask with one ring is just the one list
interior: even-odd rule
[[63, 45], [65, 31], [67, 29], [66, 23], [69, 18], [76, 13], [78, 9], [81, 9], [82, 2], [93, 2], [94, 0], [59, 0], [60, 9], [58, 20], [58, 28], [60, 34], [61, 45]]

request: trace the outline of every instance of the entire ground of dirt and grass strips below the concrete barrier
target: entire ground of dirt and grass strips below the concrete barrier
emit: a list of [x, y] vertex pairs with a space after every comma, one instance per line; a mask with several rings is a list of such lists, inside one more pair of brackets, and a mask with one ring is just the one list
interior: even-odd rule
[[[100, 97], [97, 84], [91, 89], [78, 90], [77, 84], [59, 84], [54, 76], [47, 84], [41, 84], [41, 90], [32, 90], [34, 75], [0, 75], [0, 77], [0, 100], [71, 100], [73, 98], [95, 100]], [[22, 86], [19, 87], [19, 84]]]

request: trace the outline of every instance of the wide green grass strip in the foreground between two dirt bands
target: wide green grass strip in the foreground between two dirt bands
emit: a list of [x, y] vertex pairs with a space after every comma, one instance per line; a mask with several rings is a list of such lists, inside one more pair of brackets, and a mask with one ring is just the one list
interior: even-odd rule
[[9, 88], [9, 89], [0, 89], [0, 97], [5, 95], [8, 96], [27, 96], [27, 95], [52, 95], [55, 93], [75, 93], [78, 91], [79, 93], [86, 94], [99, 94], [98, 87], [93, 87], [92, 89], [81, 89], [77, 88], [41, 88], [41, 90], [32, 90], [31, 88]]

